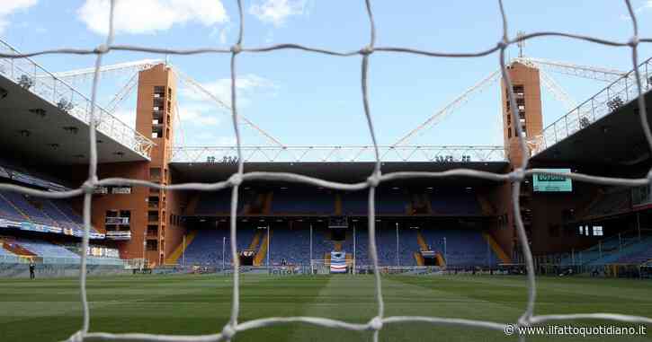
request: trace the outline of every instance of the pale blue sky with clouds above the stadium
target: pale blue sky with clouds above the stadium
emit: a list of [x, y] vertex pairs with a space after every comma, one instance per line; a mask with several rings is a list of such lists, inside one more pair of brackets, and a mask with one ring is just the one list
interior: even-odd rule
[[[633, 1], [641, 36], [652, 37], [652, 1]], [[22, 51], [89, 48], [103, 42], [106, 0], [3, 0], [0, 37]], [[492, 47], [501, 35], [497, 1], [372, 1], [377, 46], [437, 51], [475, 51]], [[353, 0], [245, 1], [246, 47], [295, 42], [320, 48], [353, 50], [369, 40], [364, 2]], [[565, 31], [607, 39], [629, 39], [631, 23], [624, 2], [616, 0], [505, 0], [510, 35], [516, 31]], [[237, 38], [235, 0], [121, 0], [116, 43], [165, 48], [228, 47]], [[525, 55], [585, 66], [631, 69], [629, 48], [569, 39], [529, 40]], [[517, 49], [509, 55], [516, 57]], [[641, 45], [640, 59], [652, 57]], [[152, 54], [112, 52], [105, 64]], [[92, 66], [94, 57], [35, 58], [52, 72]], [[229, 98], [228, 55], [170, 57], [171, 63]], [[361, 57], [326, 57], [299, 51], [242, 54], [238, 57], [240, 112], [286, 145], [369, 145], [362, 111]], [[371, 112], [380, 144], [393, 144], [472, 84], [495, 71], [497, 54], [481, 58], [433, 58], [375, 53], [370, 64]], [[577, 101], [606, 84], [550, 74]], [[100, 103], [107, 103], [130, 75], [107, 75]], [[78, 83], [89, 92], [90, 83]], [[411, 141], [413, 145], [502, 145], [498, 83]], [[544, 124], [567, 110], [542, 90]], [[181, 90], [180, 114], [185, 145], [231, 145], [228, 113], [196, 93]], [[135, 95], [116, 115], [133, 121]], [[179, 136], [177, 136], [178, 138]], [[180, 142], [180, 140], [177, 140]], [[244, 145], [264, 145], [243, 128]]]

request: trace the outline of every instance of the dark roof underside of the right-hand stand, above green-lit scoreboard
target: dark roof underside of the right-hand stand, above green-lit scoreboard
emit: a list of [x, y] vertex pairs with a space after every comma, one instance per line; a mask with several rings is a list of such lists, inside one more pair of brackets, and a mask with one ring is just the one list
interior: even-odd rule
[[[652, 121], [652, 93], [644, 95], [648, 120]], [[650, 151], [639, 118], [637, 101], [630, 101], [611, 114], [534, 155], [531, 162], [569, 165], [603, 164], [631, 166], [650, 159]]]

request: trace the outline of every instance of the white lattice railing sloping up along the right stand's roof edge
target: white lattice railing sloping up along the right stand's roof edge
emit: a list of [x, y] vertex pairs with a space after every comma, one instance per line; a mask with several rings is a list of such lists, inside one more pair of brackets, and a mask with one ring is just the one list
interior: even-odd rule
[[[652, 89], [652, 58], [639, 65], [639, 74], [641, 91], [648, 92]], [[638, 97], [636, 74], [632, 70], [545, 127], [541, 136], [536, 138], [532, 152], [536, 154], [544, 151]]]

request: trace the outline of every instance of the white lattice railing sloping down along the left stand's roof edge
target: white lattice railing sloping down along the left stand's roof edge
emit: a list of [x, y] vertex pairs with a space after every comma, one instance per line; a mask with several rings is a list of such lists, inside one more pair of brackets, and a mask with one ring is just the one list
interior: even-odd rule
[[[18, 50], [0, 39], [0, 51], [18, 54]], [[59, 110], [90, 125], [91, 101], [65, 81], [52, 75], [31, 58], [0, 58], [0, 75], [12, 80]], [[154, 142], [127, 126], [107, 110], [95, 105], [95, 128], [134, 152], [150, 157]]]

